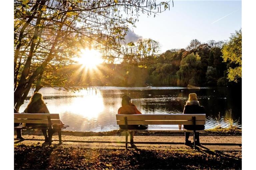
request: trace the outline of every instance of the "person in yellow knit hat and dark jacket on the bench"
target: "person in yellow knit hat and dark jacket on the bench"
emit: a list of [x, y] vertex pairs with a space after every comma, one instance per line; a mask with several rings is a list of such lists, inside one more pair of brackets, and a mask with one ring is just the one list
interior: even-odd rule
[[[205, 114], [205, 109], [203, 106], [200, 106], [197, 96], [195, 93], [189, 94], [189, 99], [184, 107], [183, 114]], [[184, 125], [184, 128], [187, 130], [203, 130], [204, 125]], [[190, 140], [188, 140], [190, 135], [190, 132], [185, 132], [185, 145], [189, 145], [191, 143]], [[195, 133], [195, 139], [196, 139], [196, 145], [200, 145], [199, 141], [199, 132]]]

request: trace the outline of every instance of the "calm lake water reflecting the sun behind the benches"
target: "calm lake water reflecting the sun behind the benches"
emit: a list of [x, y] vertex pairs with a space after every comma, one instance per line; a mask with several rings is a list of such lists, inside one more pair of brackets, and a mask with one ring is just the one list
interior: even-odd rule
[[[229, 87], [94, 87], [76, 93], [42, 88], [39, 92], [50, 113], [59, 113], [63, 123], [70, 126], [65, 130], [99, 132], [118, 129], [116, 114], [125, 94], [132, 98], [142, 114], [181, 114], [188, 94], [197, 93], [200, 105], [206, 110], [206, 128], [219, 124], [227, 127], [230, 119], [242, 127], [242, 93]], [[24, 102], [19, 112], [23, 112], [28, 102]]]

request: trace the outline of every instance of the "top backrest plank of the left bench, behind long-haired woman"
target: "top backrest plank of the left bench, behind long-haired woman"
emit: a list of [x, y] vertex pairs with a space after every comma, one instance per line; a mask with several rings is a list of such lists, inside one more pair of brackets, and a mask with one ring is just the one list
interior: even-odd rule
[[46, 113], [15, 113], [14, 119], [47, 119], [50, 116], [51, 119], [60, 119], [59, 114], [46, 114]]

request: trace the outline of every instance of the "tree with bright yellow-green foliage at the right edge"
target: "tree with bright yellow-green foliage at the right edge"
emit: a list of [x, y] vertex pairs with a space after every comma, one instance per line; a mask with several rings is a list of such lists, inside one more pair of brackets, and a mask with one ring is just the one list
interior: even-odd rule
[[242, 78], [242, 30], [231, 35], [229, 41], [223, 45], [221, 50], [224, 62], [230, 62], [235, 66], [228, 68], [228, 80], [238, 82]]

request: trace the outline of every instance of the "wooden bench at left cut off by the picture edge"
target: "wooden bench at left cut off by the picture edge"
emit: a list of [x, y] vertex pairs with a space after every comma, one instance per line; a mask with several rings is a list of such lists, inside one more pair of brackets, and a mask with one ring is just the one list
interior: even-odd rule
[[[52, 135], [58, 132], [59, 143], [61, 143], [61, 129], [69, 127], [68, 125], [60, 127], [59, 114], [39, 114], [39, 113], [14, 113], [14, 123], [38, 124], [35, 126], [23, 127], [22, 124], [14, 129], [46, 129], [48, 130], [49, 145], [52, 142]], [[40, 127], [40, 124], [47, 124], [47, 127]]]

